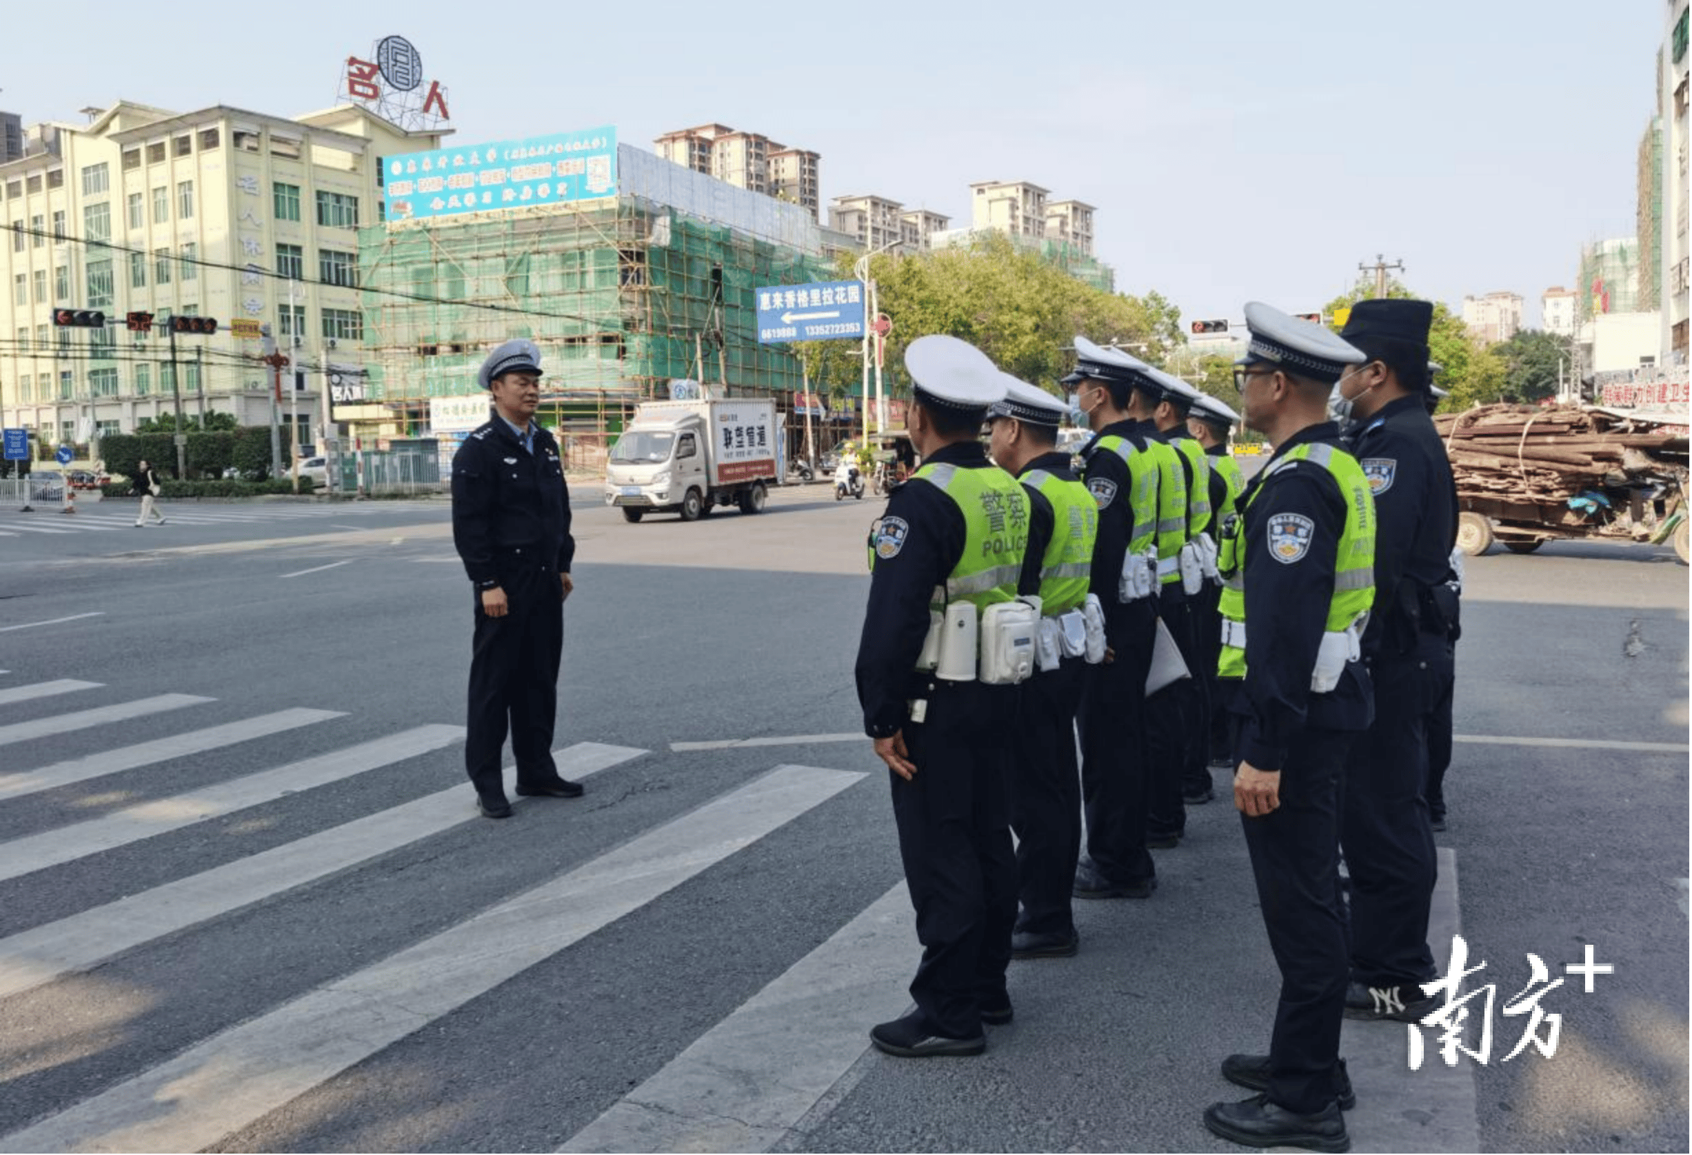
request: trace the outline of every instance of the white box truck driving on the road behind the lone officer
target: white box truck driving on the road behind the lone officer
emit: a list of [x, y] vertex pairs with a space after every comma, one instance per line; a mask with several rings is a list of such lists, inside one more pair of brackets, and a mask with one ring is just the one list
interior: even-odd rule
[[714, 506], [755, 514], [780, 479], [782, 426], [770, 397], [646, 401], [606, 462], [606, 504], [640, 521], [675, 511], [697, 521]]

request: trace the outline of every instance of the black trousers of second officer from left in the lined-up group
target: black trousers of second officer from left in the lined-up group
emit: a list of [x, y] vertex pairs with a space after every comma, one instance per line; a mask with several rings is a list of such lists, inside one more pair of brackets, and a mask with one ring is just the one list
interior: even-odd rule
[[1074, 932], [1069, 890], [1081, 856], [1081, 778], [1074, 715], [1088, 666], [1064, 658], [1022, 685], [1010, 775], [1010, 829], [1017, 835], [1017, 930], [1036, 935]]

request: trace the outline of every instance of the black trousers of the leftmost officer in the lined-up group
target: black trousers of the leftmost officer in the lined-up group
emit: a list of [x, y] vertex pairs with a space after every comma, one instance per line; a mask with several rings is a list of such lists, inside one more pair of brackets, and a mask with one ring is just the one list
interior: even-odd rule
[[905, 884], [922, 962], [910, 998], [942, 1035], [975, 1038], [981, 1006], [1005, 1003], [1017, 922], [1005, 719], [1014, 687], [954, 683], [931, 693], [927, 720], [905, 727], [917, 775], [893, 783]]

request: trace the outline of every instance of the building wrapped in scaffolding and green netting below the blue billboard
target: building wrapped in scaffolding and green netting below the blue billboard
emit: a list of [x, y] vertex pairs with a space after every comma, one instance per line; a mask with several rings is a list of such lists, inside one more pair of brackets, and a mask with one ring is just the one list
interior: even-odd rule
[[513, 337], [540, 345], [541, 421], [580, 467], [675, 379], [790, 409], [800, 364], [758, 343], [756, 289], [832, 276], [810, 213], [629, 145], [618, 183], [604, 200], [364, 230], [365, 411], [425, 433], [428, 399], [479, 392], [487, 350]]

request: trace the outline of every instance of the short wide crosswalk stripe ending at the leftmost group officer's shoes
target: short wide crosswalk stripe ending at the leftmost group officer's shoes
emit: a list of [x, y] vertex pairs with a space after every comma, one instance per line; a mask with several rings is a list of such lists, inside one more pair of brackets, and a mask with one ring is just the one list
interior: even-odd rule
[[919, 952], [898, 883], [560, 1150], [770, 1150], [909, 1006]]

